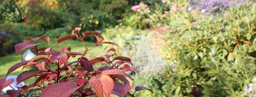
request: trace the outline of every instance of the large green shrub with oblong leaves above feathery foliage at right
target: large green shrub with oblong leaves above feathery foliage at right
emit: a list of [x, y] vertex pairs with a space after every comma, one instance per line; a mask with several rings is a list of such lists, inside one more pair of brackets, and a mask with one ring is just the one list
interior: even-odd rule
[[166, 24], [170, 30], [160, 34], [164, 38], [153, 45], [159, 46], [159, 42], [164, 44], [156, 49], [157, 52], [176, 65], [173, 67], [176, 70], [166, 70], [164, 73], [168, 79], [163, 86], [164, 91], [178, 96], [200, 96], [202, 91], [205, 95], [215, 94], [211, 91], [216, 86], [206, 91], [204, 83], [214, 83], [211, 79], [219, 75], [225, 61], [233, 62], [237, 52], [250, 59], [256, 57], [256, 36], [253, 32], [255, 6], [238, 5], [222, 17], [199, 16], [198, 19], [198, 15], [187, 11], [176, 14], [176, 18], [172, 17], [172, 23]]

